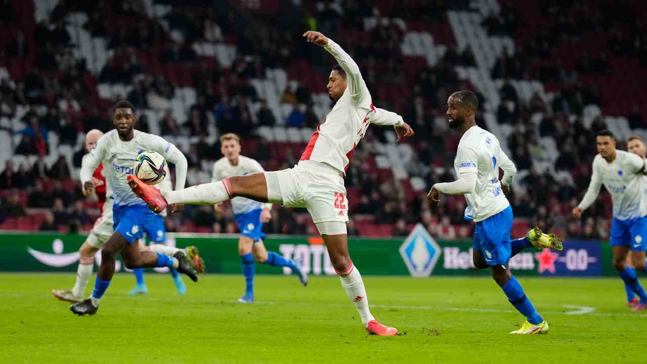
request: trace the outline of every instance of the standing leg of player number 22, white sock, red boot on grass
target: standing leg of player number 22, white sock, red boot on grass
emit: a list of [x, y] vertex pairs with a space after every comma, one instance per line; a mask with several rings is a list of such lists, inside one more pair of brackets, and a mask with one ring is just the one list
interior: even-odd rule
[[348, 254], [348, 243], [346, 234], [322, 234], [323, 241], [328, 249], [331, 263], [334, 271], [339, 275], [342, 287], [348, 298], [353, 302], [355, 309], [362, 319], [362, 324], [367, 332], [379, 336], [397, 335], [398, 330], [384, 326], [371, 315], [368, 308], [368, 298], [366, 297], [366, 288], [360, 271], [353, 265], [351, 257]]

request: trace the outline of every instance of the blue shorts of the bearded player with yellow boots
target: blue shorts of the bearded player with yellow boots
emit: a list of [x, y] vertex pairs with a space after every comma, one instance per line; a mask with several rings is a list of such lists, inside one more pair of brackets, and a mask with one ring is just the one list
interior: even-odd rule
[[474, 227], [474, 251], [481, 251], [488, 266], [508, 266], [510, 260], [510, 231], [512, 230], [512, 207], [476, 223]]

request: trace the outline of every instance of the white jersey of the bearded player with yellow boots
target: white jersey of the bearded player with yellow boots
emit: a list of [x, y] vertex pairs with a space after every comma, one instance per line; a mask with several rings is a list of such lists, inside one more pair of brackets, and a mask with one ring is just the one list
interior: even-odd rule
[[[499, 168], [505, 172], [503, 182], [510, 185], [516, 168], [501, 150], [499, 140], [489, 131], [472, 126], [461, 137], [454, 159], [454, 170], [459, 181], [438, 183], [435, 187], [444, 193], [463, 192], [468, 205], [465, 218], [481, 222], [510, 206], [501, 190]], [[468, 179], [472, 183], [476, 181], [476, 184], [472, 192], [464, 193], [465, 187], [461, 186], [461, 181]]]

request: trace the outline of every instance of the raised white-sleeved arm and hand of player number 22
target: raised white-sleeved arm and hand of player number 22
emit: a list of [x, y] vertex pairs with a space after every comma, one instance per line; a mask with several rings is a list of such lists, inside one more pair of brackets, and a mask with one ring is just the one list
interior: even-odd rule
[[360, 67], [355, 63], [353, 58], [348, 53], [335, 43], [330, 38], [327, 38], [320, 32], [308, 30], [303, 34], [305, 39], [311, 43], [322, 46], [326, 51], [333, 55], [334, 59], [339, 63], [344, 72], [346, 73], [346, 82], [348, 91], [351, 97], [360, 100], [362, 97], [369, 95], [366, 88], [366, 82], [360, 73]]

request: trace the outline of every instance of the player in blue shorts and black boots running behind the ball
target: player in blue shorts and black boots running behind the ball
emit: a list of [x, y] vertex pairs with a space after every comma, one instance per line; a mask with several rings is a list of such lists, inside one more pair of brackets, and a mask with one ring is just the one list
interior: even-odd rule
[[[120, 253], [129, 269], [139, 267], [170, 267], [197, 281], [195, 269], [188, 262], [183, 251], [173, 256], [139, 250], [138, 239], [142, 238], [144, 225], [155, 220], [146, 204], [130, 190], [126, 176], [133, 173], [133, 162], [141, 152], [153, 150], [166, 161], [175, 163], [176, 188], [183, 188], [186, 181], [186, 157], [173, 144], [157, 135], [135, 130], [135, 107], [127, 101], [117, 102], [113, 108], [115, 129], [105, 133], [90, 152], [89, 163], [81, 168], [81, 181], [86, 191], [94, 189], [92, 174], [94, 169], [104, 163], [108, 183], [113, 190], [113, 225], [115, 233], [102, 247], [101, 265], [94, 281], [94, 291], [89, 299], [72, 304], [70, 310], [77, 315], [94, 315], [98, 310], [101, 297], [110, 285], [115, 274], [115, 258]], [[158, 190], [155, 187], [151, 187]], [[181, 208], [173, 207], [172, 209]]]

